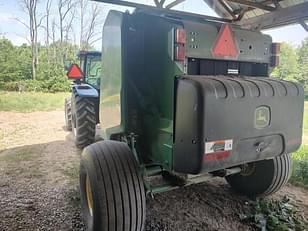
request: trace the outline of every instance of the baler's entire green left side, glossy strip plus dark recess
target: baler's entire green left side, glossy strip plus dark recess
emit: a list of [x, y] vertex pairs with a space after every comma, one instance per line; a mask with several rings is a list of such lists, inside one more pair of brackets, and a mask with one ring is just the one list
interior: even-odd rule
[[[171, 169], [174, 81], [183, 73], [171, 59], [171, 31], [178, 24], [158, 23], [164, 19], [143, 14], [111, 14], [103, 38], [103, 44], [110, 44], [103, 46], [100, 100], [105, 138], [134, 133], [138, 135], [137, 151], [147, 154], [144, 161], [163, 163]], [[129, 25], [132, 20], [138, 27], [135, 31]]]

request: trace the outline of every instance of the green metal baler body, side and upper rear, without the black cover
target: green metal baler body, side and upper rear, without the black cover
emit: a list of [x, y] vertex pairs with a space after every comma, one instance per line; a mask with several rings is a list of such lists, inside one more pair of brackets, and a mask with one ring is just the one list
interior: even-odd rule
[[[141, 163], [158, 163], [166, 170], [174, 170], [177, 80], [186, 74], [227, 74], [221, 71], [225, 69], [222, 66], [228, 71], [240, 67], [242, 75], [268, 76], [271, 38], [235, 27], [238, 57], [214, 57], [212, 47], [221, 25], [161, 17], [151, 12], [111, 11], [103, 31], [100, 94], [103, 137], [118, 139], [133, 133]], [[176, 28], [186, 30], [185, 62], [174, 60]]]

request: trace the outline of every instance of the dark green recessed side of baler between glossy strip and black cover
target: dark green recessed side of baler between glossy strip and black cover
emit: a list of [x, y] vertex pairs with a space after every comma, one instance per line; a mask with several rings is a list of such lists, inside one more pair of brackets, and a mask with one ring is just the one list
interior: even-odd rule
[[172, 60], [172, 32], [181, 25], [141, 13], [126, 22], [127, 132], [138, 135], [136, 148], [145, 162], [161, 163], [171, 170], [174, 76], [182, 74]]

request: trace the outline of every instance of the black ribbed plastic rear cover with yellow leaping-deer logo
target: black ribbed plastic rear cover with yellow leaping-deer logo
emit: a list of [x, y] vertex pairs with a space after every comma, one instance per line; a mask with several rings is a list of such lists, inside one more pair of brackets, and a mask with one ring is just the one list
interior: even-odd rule
[[291, 153], [301, 144], [303, 102], [303, 88], [288, 81], [181, 77], [175, 116], [176, 171], [209, 172]]

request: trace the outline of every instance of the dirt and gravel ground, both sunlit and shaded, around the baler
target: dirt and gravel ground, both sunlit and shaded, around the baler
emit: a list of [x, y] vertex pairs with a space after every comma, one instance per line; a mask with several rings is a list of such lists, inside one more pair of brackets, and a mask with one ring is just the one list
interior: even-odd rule
[[[62, 111], [0, 112], [0, 230], [83, 230], [78, 189], [79, 157]], [[308, 217], [308, 191], [287, 185]], [[257, 230], [242, 222], [249, 200], [221, 179], [147, 199], [146, 230]]]

